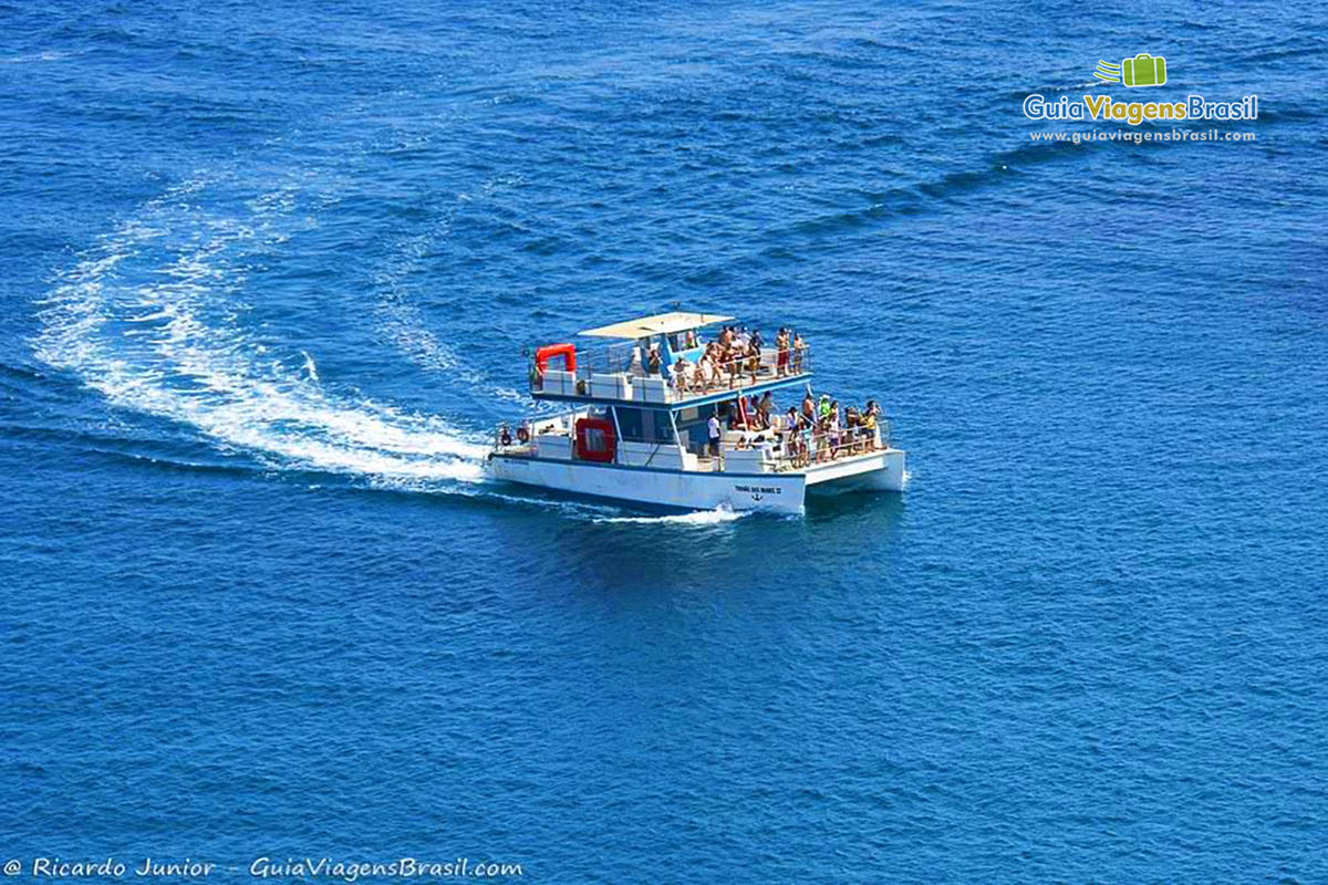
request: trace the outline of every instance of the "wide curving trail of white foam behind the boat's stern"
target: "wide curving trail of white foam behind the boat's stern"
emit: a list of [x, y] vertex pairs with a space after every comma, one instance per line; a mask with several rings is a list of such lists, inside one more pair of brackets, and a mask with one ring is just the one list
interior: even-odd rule
[[[485, 446], [442, 419], [324, 390], [308, 352], [297, 373], [264, 360], [267, 348], [235, 322], [243, 272], [228, 255], [256, 238], [283, 241], [272, 218], [293, 198], [264, 195], [248, 204], [254, 216], [236, 222], [190, 204], [203, 184], [147, 203], [62, 275], [41, 312], [37, 357], [116, 405], [190, 425], [276, 466], [377, 482], [482, 479]], [[163, 252], [173, 260], [163, 263]]]

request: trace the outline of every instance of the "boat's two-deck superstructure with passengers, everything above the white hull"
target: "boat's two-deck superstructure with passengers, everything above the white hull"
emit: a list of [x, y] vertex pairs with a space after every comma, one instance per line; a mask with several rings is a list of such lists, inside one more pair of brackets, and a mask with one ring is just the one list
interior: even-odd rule
[[[811, 353], [789, 332], [761, 341], [733, 317], [672, 312], [587, 329], [538, 348], [535, 399], [572, 409], [499, 430], [495, 454], [660, 471], [780, 472], [880, 451], [883, 422], [794, 422], [773, 391], [805, 387]], [[781, 330], [782, 332], [782, 330]], [[801, 399], [801, 395], [798, 397]], [[788, 403], [795, 405], [795, 403]], [[788, 407], [788, 406], [785, 406]], [[712, 444], [712, 419], [718, 444]]]

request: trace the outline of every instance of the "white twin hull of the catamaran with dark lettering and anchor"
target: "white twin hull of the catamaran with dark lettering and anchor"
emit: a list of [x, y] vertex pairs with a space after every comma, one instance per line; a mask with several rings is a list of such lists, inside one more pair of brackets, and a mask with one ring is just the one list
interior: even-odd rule
[[799, 471], [758, 474], [657, 470], [499, 452], [490, 464], [494, 476], [507, 482], [685, 510], [801, 513], [807, 491], [902, 491], [904, 486], [904, 452], [898, 448]]

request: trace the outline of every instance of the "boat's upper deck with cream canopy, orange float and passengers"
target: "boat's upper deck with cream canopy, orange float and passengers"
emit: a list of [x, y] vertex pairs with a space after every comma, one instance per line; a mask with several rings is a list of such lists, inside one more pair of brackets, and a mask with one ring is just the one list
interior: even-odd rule
[[[530, 364], [530, 394], [578, 403], [688, 409], [750, 395], [811, 378], [811, 349], [790, 332], [753, 348], [750, 338], [722, 326], [733, 317], [664, 313], [588, 329], [582, 336], [611, 344], [539, 348]], [[732, 338], [721, 346], [721, 340]], [[560, 364], [560, 365], [559, 365]]]

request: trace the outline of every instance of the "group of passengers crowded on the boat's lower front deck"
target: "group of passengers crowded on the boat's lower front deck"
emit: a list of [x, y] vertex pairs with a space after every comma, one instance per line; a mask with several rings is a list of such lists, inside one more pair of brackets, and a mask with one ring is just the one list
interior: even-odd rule
[[[741, 405], [741, 409], [729, 410], [728, 429], [756, 431], [758, 435], [750, 443], [738, 443], [740, 447], [766, 442], [761, 431], [770, 431], [770, 439], [781, 443], [785, 456], [797, 464], [807, 464], [811, 460], [834, 460], [846, 454], [862, 454], [876, 446], [880, 406], [875, 399], [869, 399], [862, 409], [841, 409], [839, 402], [829, 394], [821, 394], [818, 401], [807, 390], [801, 407], [789, 406], [782, 418], [774, 415], [774, 398], [769, 390], [760, 398], [749, 397]], [[717, 418], [712, 417], [710, 448], [714, 454], [718, 448], [718, 426]]]

